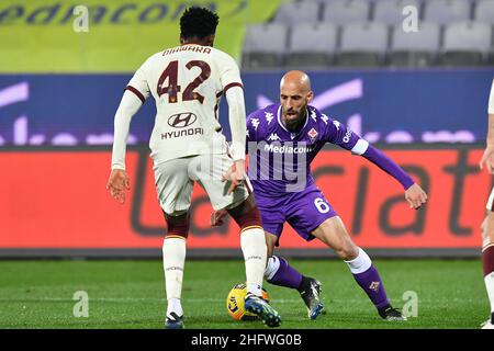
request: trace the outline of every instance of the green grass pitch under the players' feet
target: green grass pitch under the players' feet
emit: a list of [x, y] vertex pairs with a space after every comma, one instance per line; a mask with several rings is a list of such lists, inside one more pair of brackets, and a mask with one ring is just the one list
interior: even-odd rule
[[[337, 260], [291, 260], [323, 283], [327, 314], [308, 320], [294, 290], [265, 283], [282, 328], [473, 328], [489, 316], [480, 260], [375, 260], [389, 297], [402, 307], [404, 292], [418, 297], [418, 315], [382, 321]], [[0, 328], [162, 328], [164, 274], [155, 261], [0, 261]], [[243, 261], [188, 261], [182, 305], [186, 328], [265, 328], [226, 312], [226, 294], [245, 276]], [[86, 291], [89, 316], [76, 318], [74, 294]]]

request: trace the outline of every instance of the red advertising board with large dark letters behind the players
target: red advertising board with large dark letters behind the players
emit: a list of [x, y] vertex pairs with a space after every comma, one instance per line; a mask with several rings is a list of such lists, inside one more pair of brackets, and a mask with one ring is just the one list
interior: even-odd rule
[[[428, 192], [427, 206], [411, 210], [396, 181], [346, 150], [326, 148], [313, 162], [317, 185], [357, 245], [400, 254], [411, 250], [476, 254], [484, 215], [479, 202], [487, 199], [492, 186], [491, 177], [478, 168], [482, 149], [407, 146], [384, 150]], [[104, 188], [110, 159], [110, 151], [94, 148], [0, 150], [0, 256], [158, 257], [165, 227], [147, 148], [128, 151], [132, 191], [124, 205]], [[236, 224], [227, 220], [223, 227], [211, 228], [212, 212], [204, 191], [195, 186], [189, 252], [237, 254]], [[302, 240], [289, 225], [280, 244], [280, 249], [295, 256], [330, 254], [319, 241]]]

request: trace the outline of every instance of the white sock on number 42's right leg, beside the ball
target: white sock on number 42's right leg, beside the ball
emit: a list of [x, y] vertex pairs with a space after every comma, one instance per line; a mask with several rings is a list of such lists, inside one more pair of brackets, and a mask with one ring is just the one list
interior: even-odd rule
[[259, 227], [252, 227], [242, 231], [240, 247], [245, 259], [247, 293], [261, 296], [262, 279], [268, 256], [265, 230]]

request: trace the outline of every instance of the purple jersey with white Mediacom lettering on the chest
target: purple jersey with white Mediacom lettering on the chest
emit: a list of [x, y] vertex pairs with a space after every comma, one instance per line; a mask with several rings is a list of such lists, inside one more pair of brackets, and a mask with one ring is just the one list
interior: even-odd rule
[[290, 133], [282, 124], [280, 104], [251, 113], [247, 117], [248, 177], [256, 196], [278, 197], [313, 185], [311, 162], [326, 143], [358, 155], [369, 145], [313, 106], [307, 106], [299, 133]]

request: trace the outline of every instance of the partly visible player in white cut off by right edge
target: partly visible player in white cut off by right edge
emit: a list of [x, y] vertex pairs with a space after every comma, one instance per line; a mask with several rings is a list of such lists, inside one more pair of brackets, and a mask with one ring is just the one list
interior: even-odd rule
[[[487, 172], [494, 174], [494, 79], [489, 97], [487, 139], [480, 168], [483, 169], [484, 165]], [[483, 324], [482, 329], [494, 329], [494, 189], [489, 196], [486, 210], [487, 215], [482, 223], [482, 267], [491, 304], [491, 317]]]

